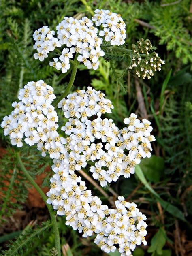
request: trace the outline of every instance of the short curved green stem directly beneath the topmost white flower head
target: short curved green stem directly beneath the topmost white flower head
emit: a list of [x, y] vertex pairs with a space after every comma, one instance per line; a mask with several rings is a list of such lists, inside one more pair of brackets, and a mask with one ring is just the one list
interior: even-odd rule
[[69, 80], [69, 83], [66, 87], [66, 90], [64, 91], [64, 93], [57, 99], [55, 100], [53, 106], [54, 107], [57, 107], [58, 103], [64, 98], [66, 97], [69, 92], [70, 92], [70, 89], [74, 83], [74, 80], [75, 80], [75, 76], [76, 76], [76, 73], [77, 73], [77, 67], [78, 67], [78, 64], [79, 64], [79, 61], [77, 60], [77, 57], [78, 57], [78, 53], [76, 53], [75, 55], [75, 59], [73, 60], [73, 68], [72, 68], [72, 73], [71, 73], [71, 76], [70, 76], [70, 80]]

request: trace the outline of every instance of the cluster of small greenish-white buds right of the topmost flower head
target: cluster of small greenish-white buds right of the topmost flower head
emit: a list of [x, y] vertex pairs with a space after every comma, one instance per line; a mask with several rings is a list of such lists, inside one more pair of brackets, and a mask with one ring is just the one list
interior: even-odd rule
[[133, 54], [129, 69], [132, 73], [143, 79], [145, 77], [150, 79], [154, 75], [154, 71], [160, 71], [161, 66], [165, 63], [155, 51], [149, 53], [151, 50], [152, 45], [148, 39], [144, 41], [141, 38], [137, 42], [137, 45], [132, 45]]

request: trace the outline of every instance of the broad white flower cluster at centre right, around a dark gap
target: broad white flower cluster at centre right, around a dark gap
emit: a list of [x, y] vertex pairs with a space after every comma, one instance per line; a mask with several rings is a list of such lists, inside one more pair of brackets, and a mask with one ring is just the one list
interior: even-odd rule
[[[110, 113], [110, 108], [113, 108], [111, 101], [104, 96], [88, 87], [86, 92], [80, 90], [69, 94], [58, 104], [65, 117], [69, 118], [62, 130], [70, 135], [66, 148], [70, 150], [69, 157], [73, 156], [71, 163], [79, 170], [81, 166], [77, 169], [77, 162], [82, 162], [82, 167], [87, 161], [94, 162], [90, 171], [101, 186], [117, 181], [121, 175], [129, 178], [141, 158], [151, 156], [151, 141], [155, 140], [150, 134], [150, 122], [146, 119], [140, 122], [135, 114], [124, 119], [128, 127], [123, 130], [119, 130], [112, 119], [100, 118], [101, 114]], [[88, 118], [93, 115], [98, 117], [90, 121]], [[96, 143], [98, 140], [101, 142]]]

